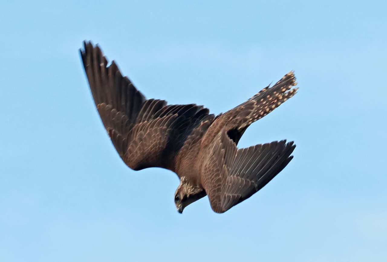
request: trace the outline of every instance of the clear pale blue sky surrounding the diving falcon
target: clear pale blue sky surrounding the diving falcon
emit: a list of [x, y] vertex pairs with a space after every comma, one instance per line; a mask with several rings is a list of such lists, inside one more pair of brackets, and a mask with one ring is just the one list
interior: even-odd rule
[[[1, 1], [0, 261], [385, 261], [386, 1]], [[78, 49], [147, 98], [218, 114], [295, 70], [298, 94], [239, 147], [295, 158], [224, 214], [183, 212], [177, 176], [133, 171]]]

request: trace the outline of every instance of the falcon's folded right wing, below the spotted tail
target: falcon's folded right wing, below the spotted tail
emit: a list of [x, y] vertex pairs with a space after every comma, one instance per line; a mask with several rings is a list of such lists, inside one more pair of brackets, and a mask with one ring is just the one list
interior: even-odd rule
[[284, 169], [294, 149], [293, 142], [283, 140], [237, 150], [226, 130], [219, 132], [202, 171], [212, 209], [223, 213], [251, 197]]

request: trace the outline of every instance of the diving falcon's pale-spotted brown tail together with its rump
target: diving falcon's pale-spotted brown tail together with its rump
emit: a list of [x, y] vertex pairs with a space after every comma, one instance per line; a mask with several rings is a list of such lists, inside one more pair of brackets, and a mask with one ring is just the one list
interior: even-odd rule
[[246, 102], [219, 115], [206, 132], [202, 145], [211, 144], [216, 135], [223, 129], [238, 144], [239, 139], [251, 123], [264, 117], [296, 94], [298, 88], [292, 88], [296, 85], [293, 71], [289, 72], [274, 86], [265, 87]]

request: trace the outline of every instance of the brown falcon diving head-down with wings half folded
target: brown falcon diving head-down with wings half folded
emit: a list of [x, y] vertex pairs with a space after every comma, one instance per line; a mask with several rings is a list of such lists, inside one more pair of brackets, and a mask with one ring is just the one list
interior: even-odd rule
[[110, 64], [99, 45], [83, 42], [80, 56], [102, 123], [123, 162], [132, 170], [165, 168], [176, 173], [176, 209], [208, 195], [216, 213], [248, 199], [293, 159], [293, 141], [238, 149], [245, 130], [289, 98], [298, 87], [294, 72], [250, 99], [214, 115], [197, 104], [146, 99]]

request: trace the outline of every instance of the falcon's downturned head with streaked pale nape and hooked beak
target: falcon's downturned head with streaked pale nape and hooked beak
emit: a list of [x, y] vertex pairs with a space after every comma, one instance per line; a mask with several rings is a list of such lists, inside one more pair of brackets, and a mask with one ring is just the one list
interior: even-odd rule
[[175, 192], [175, 205], [180, 214], [184, 208], [207, 195], [203, 188], [194, 186], [188, 180], [182, 178]]

